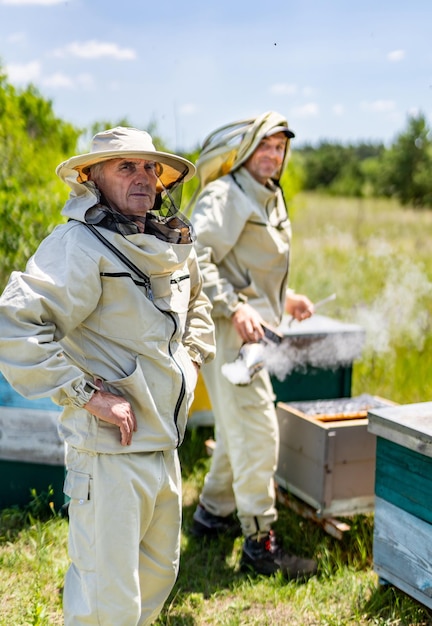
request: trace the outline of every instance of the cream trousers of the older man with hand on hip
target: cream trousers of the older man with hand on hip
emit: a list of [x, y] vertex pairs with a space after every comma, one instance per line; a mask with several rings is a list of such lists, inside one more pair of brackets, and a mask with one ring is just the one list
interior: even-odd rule
[[65, 626], [151, 624], [178, 571], [175, 453], [92, 455], [69, 448], [67, 466], [72, 562]]

